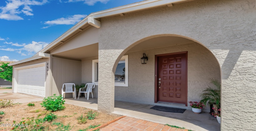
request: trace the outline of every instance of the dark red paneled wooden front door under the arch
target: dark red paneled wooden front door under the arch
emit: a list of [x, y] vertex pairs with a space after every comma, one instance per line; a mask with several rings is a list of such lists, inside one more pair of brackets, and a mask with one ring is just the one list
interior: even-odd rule
[[187, 103], [187, 52], [156, 55], [156, 101]]

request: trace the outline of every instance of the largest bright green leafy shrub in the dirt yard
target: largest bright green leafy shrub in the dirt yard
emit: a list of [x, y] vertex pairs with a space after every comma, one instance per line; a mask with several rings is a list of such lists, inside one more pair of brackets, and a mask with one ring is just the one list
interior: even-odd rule
[[65, 109], [64, 102], [65, 100], [62, 99], [62, 95], [56, 96], [56, 94], [54, 94], [53, 96], [44, 98], [41, 105], [45, 107], [46, 110], [54, 112]]

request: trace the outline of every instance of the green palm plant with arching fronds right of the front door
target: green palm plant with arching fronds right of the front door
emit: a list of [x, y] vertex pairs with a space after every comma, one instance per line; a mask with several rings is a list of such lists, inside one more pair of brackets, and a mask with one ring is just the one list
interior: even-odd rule
[[203, 91], [202, 94], [200, 94], [201, 101], [205, 105], [208, 104], [209, 106], [211, 104], [216, 104], [218, 108], [220, 108], [220, 91], [221, 91], [221, 85], [219, 80], [217, 79], [210, 79], [210, 83], [213, 84], [213, 86], [206, 87], [206, 89]]

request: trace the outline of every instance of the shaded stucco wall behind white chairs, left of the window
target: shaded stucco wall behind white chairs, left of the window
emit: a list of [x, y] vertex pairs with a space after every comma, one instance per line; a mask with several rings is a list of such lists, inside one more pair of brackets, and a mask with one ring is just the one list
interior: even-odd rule
[[[98, 59], [98, 58], [82, 60], [82, 68], [81, 68], [82, 83], [93, 83], [92, 82], [92, 60], [95, 60], [95, 59]], [[92, 89], [92, 94], [93, 94], [93, 98], [98, 98], [98, 85], [95, 85], [95, 88]]]

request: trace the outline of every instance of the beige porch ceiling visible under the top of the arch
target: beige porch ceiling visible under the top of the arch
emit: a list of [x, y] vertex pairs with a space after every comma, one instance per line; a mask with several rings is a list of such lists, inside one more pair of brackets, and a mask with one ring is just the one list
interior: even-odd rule
[[193, 41], [186, 38], [182, 38], [182, 37], [161, 36], [161, 37], [156, 37], [156, 38], [143, 41], [138, 45], [132, 47], [127, 52], [141, 51], [141, 50], [147, 50], [147, 49], [158, 48], [163, 46], [171, 46], [171, 45], [183, 44], [183, 43], [185, 44], [190, 42], [193, 42]]

